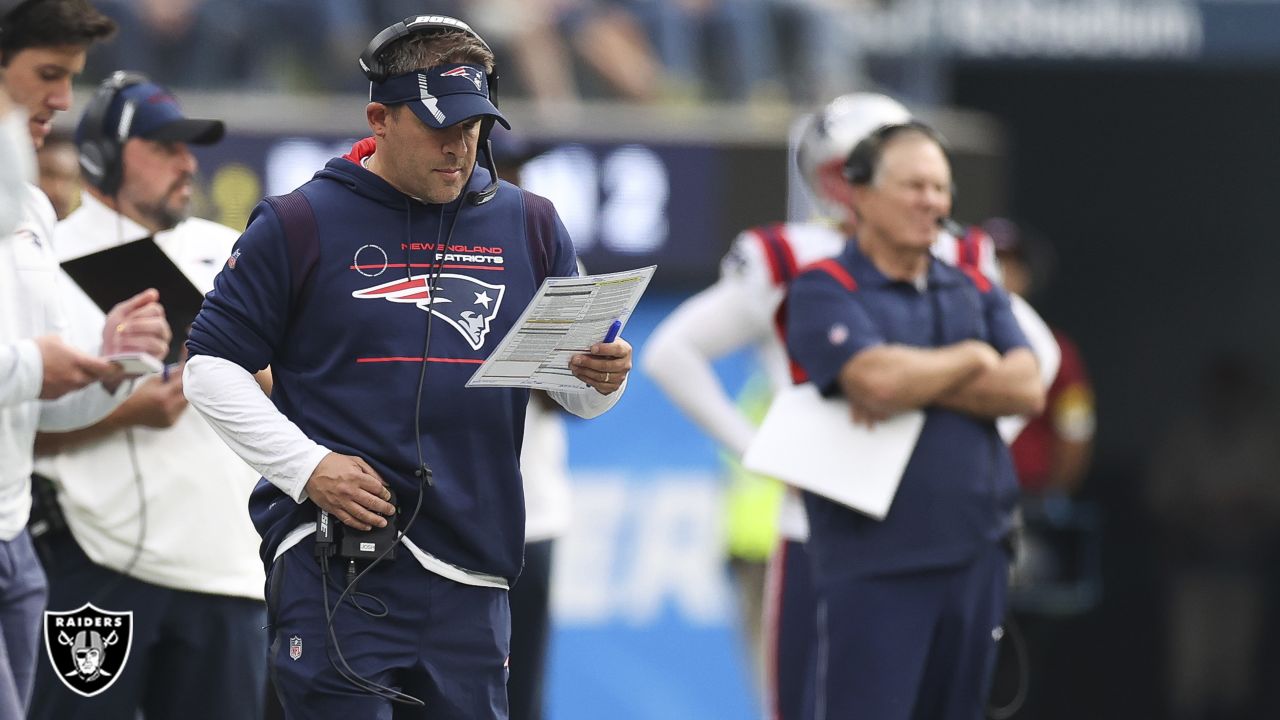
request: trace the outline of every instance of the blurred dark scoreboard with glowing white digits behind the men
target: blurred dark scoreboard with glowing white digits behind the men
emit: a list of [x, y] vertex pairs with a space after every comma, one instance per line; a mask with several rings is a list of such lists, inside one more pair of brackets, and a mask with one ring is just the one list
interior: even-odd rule
[[[201, 161], [197, 215], [242, 229], [264, 195], [292, 191], [358, 137], [238, 133], [233, 126], [221, 143], [192, 149]], [[655, 264], [655, 287], [696, 288], [714, 279], [739, 232], [787, 217], [792, 173], [785, 132], [773, 142], [618, 137], [529, 143], [538, 152], [524, 164], [520, 182], [556, 204], [593, 273]], [[998, 213], [1005, 205], [998, 150], [960, 143], [954, 161], [961, 187], [957, 217], [979, 220]]]

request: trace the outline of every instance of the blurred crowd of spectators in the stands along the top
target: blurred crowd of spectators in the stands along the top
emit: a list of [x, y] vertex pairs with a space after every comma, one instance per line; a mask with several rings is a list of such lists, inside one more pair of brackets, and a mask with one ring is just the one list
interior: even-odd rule
[[856, 86], [858, 49], [844, 28], [868, 3], [104, 0], [120, 31], [86, 77], [129, 68], [174, 87], [361, 91], [353, 60], [369, 38], [387, 18], [430, 10], [466, 17], [503, 59], [502, 92], [541, 104], [810, 104]]

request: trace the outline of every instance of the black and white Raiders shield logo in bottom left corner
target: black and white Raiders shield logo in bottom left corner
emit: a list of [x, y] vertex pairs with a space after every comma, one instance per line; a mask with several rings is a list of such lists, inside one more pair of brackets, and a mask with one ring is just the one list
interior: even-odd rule
[[86, 602], [69, 612], [45, 611], [49, 662], [72, 692], [93, 697], [120, 676], [133, 644], [133, 612]]

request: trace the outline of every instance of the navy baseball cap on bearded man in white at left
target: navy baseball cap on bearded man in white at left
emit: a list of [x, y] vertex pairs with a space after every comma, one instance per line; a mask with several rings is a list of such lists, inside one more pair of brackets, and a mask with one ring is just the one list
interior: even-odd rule
[[[86, 113], [76, 127], [76, 142], [86, 140], [87, 123], [92, 113]], [[104, 136], [122, 142], [131, 137], [160, 142], [188, 142], [212, 145], [223, 138], [227, 127], [221, 120], [188, 118], [178, 106], [178, 100], [154, 82], [131, 85], [115, 94], [111, 105], [102, 114]]]

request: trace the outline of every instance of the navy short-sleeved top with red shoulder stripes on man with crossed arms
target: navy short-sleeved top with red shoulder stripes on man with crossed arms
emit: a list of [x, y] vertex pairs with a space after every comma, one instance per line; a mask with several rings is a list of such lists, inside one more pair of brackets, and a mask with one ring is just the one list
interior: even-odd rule
[[[977, 272], [929, 261], [927, 290], [884, 277], [850, 241], [803, 272], [787, 296], [787, 352], [826, 395], [840, 369], [881, 343], [942, 347], [980, 340], [1027, 346], [1009, 296]], [[806, 493], [815, 580], [968, 562], [1010, 529], [1018, 480], [993, 420], [925, 407], [924, 429], [883, 520]], [[841, 468], [858, 482], [858, 468]]]

